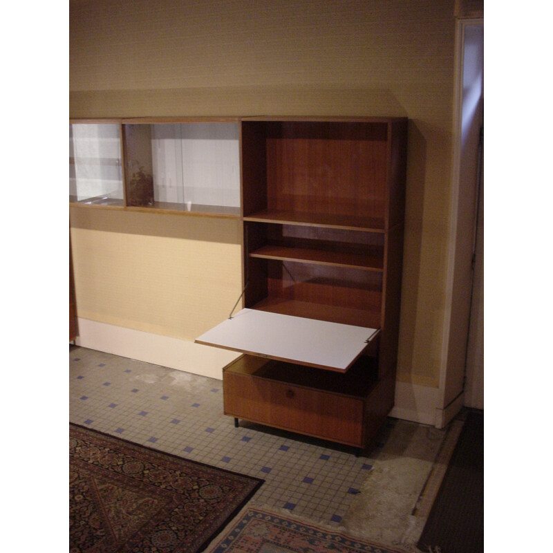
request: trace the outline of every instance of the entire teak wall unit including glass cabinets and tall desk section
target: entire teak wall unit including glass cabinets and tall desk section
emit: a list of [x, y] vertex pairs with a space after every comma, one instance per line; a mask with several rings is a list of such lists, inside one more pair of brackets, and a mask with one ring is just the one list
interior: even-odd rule
[[[196, 339], [243, 353], [223, 369], [225, 414], [364, 449], [394, 403], [406, 118], [70, 123], [112, 125], [98, 131], [109, 154], [95, 147], [87, 158], [85, 137], [78, 162], [85, 174], [87, 164], [103, 167], [120, 186], [113, 197], [70, 196], [73, 203], [241, 219], [243, 294], [227, 320]], [[156, 136], [172, 137], [185, 161], [156, 158]], [[217, 149], [220, 139], [238, 147]], [[232, 205], [160, 200], [155, 181], [175, 170], [165, 162], [187, 175], [179, 177], [185, 187], [189, 175], [209, 186], [221, 178], [241, 197]], [[229, 174], [238, 180], [229, 184]]]

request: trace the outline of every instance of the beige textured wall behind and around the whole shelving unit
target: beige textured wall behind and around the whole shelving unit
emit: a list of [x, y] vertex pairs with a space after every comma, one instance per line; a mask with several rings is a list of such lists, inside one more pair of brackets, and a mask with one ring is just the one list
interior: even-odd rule
[[[409, 117], [397, 378], [437, 388], [451, 226], [453, 0], [75, 0], [70, 8], [71, 117]], [[115, 224], [120, 213], [82, 212], [71, 212], [80, 317], [191, 339], [226, 312], [218, 306], [236, 301], [236, 242], [113, 232], [104, 219]], [[132, 224], [177, 234], [187, 225], [148, 217], [133, 214]]]

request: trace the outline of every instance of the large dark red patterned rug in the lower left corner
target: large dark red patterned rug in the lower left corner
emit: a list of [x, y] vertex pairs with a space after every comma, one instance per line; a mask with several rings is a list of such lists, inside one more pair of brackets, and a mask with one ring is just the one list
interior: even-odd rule
[[70, 553], [198, 553], [263, 483], [69, 425]]

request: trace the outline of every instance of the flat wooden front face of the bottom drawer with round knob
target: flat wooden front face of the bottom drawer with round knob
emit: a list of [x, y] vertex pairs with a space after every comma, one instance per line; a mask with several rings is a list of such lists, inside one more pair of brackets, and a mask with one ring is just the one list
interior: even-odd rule
[[362, 447], [363, 402], [252, 375], [223, 373], [225, 414]]

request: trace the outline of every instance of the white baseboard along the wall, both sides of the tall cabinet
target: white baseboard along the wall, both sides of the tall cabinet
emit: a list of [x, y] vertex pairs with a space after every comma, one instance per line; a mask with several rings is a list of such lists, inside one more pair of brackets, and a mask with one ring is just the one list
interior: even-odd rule
[[[239, 353], [141, 330], [133, 330], [89, 319], [78, 319], [77, 346], [105, 351], [130, 359], [174, 368], [221, 380], [223, 367]], [[437, 422], [438, 388], [397, 382], [395, 406], [390, 415], [403, 420], [434, 425]]]

